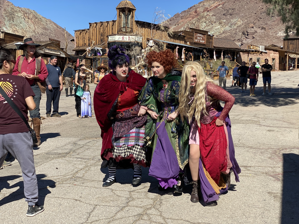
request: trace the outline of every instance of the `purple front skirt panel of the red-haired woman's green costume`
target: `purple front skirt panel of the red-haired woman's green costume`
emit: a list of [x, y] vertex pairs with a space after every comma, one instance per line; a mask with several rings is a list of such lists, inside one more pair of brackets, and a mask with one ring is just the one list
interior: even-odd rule
[[[160, 122], [157, 122], [157, 127]], [[179, 177], [179, 162], [176, 153], [171, 145], [169, 136], [163, 121], [157, 129], [157, 143], [152, 155], [152, 163], [149, 168], [149, 176], [159, 180], [162, 188], [172, 188], [178, 182]]]

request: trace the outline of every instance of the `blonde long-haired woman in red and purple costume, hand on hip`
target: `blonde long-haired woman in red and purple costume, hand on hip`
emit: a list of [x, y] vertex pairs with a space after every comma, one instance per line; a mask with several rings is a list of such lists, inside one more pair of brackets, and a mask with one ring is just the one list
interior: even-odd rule
[[[224, 108], [219, 101], [225, 102]], [[187, 62], [181, 77], [178, 112], [190, 124], [189, 166], [193, 179], [192, 202], [199, 192], [207, 206], [217, 205], [218, 195], [230, 186], [230, 173], [241, 172], [234, 157], [228, 112], [235, 98], [205, 75], [197, 62]], [[199, 190], [199, 192], [198, 192]]]

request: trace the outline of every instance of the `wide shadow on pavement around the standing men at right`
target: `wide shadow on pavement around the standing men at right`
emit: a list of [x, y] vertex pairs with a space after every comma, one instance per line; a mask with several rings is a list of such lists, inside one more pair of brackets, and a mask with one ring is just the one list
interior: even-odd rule
[[297, 87], [271, 87], [273, 96], [268, 95], [268, 88], [266, 88], [266, 95], [262, 96], [263, 87], [255, 88], [254, 93], [257, 96], [249, 96], [249, 86], [247, 86], [247, 93], [240, 93], [241, 88], [239, 87], [230, 87], [226, 90], [236, 98], [235, 104], [244, 107], [258, 105], [281, 107], [297, 104], [299, 99], [299, 88]]

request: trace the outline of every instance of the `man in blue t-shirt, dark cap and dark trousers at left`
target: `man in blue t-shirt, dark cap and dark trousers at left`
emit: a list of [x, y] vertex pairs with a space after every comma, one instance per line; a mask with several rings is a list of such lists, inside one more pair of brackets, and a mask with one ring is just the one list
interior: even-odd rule
[[46, 79], [47, 88], [47, 102], [46, 102], [46, 114], [47, 117], [51, 117], [51, 105], [53, 102], [53, 117], [61, 117], [58, 113], [60, 92], [63, 90], [63, 82], [61, 76], [60, 67], [57, 65], [57, 57], [51, 56], [50, 64], [47, 65], [48, 77]]

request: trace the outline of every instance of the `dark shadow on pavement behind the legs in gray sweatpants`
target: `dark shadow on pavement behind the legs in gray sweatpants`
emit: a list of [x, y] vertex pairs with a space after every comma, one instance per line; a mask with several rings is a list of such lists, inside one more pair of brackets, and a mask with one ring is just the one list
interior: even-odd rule
[[[0, 190], [2, 190], [3, 188], [7, 188], [7, 189], [12, 189], [12, 188], [16, 188], [19, 187], [16, 191], [10, 193], [9, 195], [7, 195], [6, 197], [2, 198], [0, 200], [0, 206], [1, 205], [5, 205], [7, 203], [13, 202], [13, 201], [18, 201], [22, 198], [25, 198], [24, 196], [24, 182], [23, 181], [19, 181], [13, 185], [9, 185], [9, 183], [7, 181], [13, 180], [13, 179], [17, 179], [19, 177], [19, 175], [12, 175], [12, 176], [6, 176], [6, 177], [1, 177], [0, 178]], [[36, 178], [37, 178], [37, 185], [39, 188], [39, 200], [38, 203], [39, 205], [44, 205], [45, 203], [45, 197], [47, 194], [51, 194], [51, 191], [49, 191], [48, 187], [50, 188], [55, 188], [55, 184], [56, 182], [50, 179], [42, 179], [47, 177], [45, 174], [37, 174]]]

